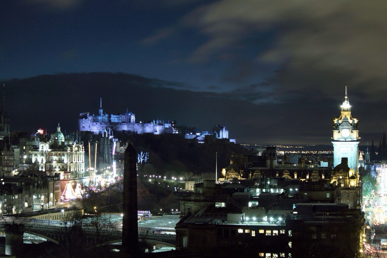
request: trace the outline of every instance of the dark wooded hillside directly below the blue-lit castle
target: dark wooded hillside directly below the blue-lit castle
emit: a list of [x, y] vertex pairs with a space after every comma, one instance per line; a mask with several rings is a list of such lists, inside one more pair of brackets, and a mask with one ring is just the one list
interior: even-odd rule
[[[217, 153], [218, 172], [227, 167], [231, 153], [247, 154], [248, 150], [239, 144], [227, 140], [214, 139], [203, 144], [195, 140], [187, 140], [182, 134], [125, 134], [116, 132], [115, 137], [122, 141], [131, 141], [137, 153], [149, 153], [151, 166], [139, 166], [139, 170], [148, 169], [152, 172], [169, 175], [192, 172], [195, 175], [215, 172]], [[151, 167], [151, 170], [149, 170]]]

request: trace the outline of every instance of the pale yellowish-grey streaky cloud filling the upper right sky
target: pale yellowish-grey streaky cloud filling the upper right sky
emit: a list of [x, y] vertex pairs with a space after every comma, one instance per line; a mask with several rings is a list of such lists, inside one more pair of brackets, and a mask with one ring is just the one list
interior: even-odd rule
[[[372, 91], [380, 99], [387, 83], [386, 13], [385, 1], [365, 5], [363, 1], [278, 4], [269, 0], [225, 0], [192, 10], [179, 26], [196, 28], [206, 36], [188, 62], [231, 57], [224, 81], [253, 77], [258, 72], [257, 62], [282, 67], [265, 82], [275, 83], [277, 94], [322, 87], [337, 94], [339, 86], [348, 85], [365, 95]], [[276, 35], [265, 38], [262, 33], [268, 31]], [[265, 46], [259, 40], [251, 41], [252, 35], [269, 42]], [[262, 46], [265, 48], [261, 52], [252, 51], [250, 60], [241, 60], [235, 53], [239, 48], [248, 52]]]

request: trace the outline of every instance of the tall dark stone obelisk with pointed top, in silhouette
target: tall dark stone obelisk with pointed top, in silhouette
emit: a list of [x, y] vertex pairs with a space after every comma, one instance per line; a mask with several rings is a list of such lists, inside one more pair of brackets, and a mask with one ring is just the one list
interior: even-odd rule
[[125, 150], [123, 174], [122, 256], [139, 256], [137, 227], [137, 153], [129, 143]]

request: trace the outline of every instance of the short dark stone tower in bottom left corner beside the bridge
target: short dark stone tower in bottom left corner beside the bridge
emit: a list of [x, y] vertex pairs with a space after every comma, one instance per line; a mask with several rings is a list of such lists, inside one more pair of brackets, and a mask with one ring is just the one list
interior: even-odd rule
[[23, 224], [5, 224], [5, 254], [22, 256], [23, 254]]

